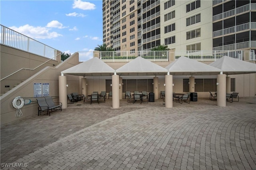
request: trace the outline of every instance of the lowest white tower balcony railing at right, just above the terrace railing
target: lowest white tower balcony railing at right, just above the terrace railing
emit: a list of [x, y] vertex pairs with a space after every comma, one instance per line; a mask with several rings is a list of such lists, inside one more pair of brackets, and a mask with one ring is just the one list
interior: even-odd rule
[[256, 41], [245, 41], [236, 44], [223, 45], [219, 47], [213, 47], [213, 50], [238, 50], [238, 49], [248, 49], [256, 48]]

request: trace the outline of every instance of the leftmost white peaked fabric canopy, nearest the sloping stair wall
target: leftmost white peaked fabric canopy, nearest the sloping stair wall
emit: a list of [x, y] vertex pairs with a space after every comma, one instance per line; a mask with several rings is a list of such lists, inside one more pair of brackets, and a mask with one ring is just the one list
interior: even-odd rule
[[71, 74], [75, 76], [112, 76], [115, 70], [108, 64], [94, 57], [88, 61], [63, 70], [62, 74]]

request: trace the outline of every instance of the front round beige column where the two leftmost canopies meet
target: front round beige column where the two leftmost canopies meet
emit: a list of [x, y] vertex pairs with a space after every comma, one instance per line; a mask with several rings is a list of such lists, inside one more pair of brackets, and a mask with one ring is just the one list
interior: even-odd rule
[[112, 75], [112, 108], [119, 108], [119, 76]]

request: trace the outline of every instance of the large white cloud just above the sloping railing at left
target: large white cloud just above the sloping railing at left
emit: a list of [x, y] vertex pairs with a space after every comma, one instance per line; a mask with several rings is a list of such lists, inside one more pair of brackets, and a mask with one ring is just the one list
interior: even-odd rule
[[33, 39], [51, 39], [62, 36], [57, 32], [50, 32], [50, 29], [46, 27], [34, 27], [28, 24], [20, 27], [12, 26], [10, 29], [13, 29]]

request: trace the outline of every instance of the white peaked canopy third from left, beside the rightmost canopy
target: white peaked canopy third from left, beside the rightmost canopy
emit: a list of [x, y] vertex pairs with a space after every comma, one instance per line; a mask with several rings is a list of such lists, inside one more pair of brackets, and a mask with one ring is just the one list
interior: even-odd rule
[[172, 75], [217, 75], [221, 70], [199, 61], [180, 57], [178, 60], [165, 67]]

